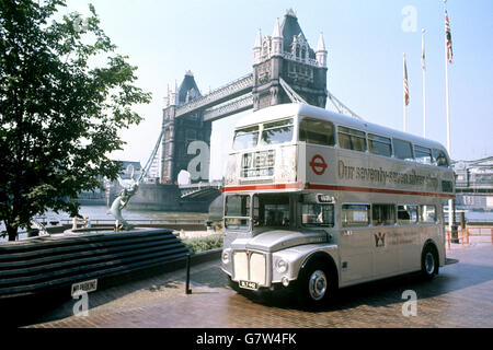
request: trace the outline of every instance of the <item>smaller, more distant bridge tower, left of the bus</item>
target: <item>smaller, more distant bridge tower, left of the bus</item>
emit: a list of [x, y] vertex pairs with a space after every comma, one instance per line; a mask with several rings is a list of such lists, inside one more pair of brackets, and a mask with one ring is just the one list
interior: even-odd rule
[[[164, 136], [161, 144], [161, 182], [164, 184], [175, 184], [179, 173], [187, 170], [190, 162], [196, 156], [195, 153], [188, 154], [191, 142], [199, 140], [210, 144], [211, 122], [204, 121], [202, 110], [176, 118], [176, 109], [180, 106], [200, 96], [200, 91], [191, 71], [185, 73], [180, 86], [175, 83], [171, 90], [168, 88], [162, 118]], [[199, 178], [199, 180], [207, 179]]]

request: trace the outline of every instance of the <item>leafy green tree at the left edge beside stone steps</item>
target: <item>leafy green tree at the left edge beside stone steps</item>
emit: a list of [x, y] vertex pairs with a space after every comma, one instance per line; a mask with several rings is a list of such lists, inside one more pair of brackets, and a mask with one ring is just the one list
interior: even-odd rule
[[[0, 0], [0, 220], [9, 241], [51, 209], [78, 214], [78, 194], [115, 179], [108, 159], [138, 124], [136, 67], [91, 15], [55, 20], [64, 0]], [[94, 62], [101, 62], [95, 65]]]

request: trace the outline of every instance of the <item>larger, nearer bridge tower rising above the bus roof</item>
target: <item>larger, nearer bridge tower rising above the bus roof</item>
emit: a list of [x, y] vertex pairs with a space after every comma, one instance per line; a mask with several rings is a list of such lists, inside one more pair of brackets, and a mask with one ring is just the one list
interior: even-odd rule
[[290, 102], [279, 78], [307, 103], [325, 108], [326, 56], [323, 35], [313, 50], [293, 10], [286, 11], [282, 24], [277, 19], [272, 36], [262, 37], [259, 31], [253, 47], [253, 109]]

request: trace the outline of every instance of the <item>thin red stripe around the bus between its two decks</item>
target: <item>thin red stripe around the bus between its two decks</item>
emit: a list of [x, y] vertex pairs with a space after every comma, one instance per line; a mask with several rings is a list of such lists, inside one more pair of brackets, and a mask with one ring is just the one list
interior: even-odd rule
[[[242, 191], [242, 190], [246, 191], [246, 190], [268, 190], [268, 189], [293, 189], [293, 188], [301, 188], [301, 187], [299, 184], [246, 185], [246, 186], [225, 187], [225, 192]], [[306, 189], [322, 189], [322, 190], [346, 190], [346, 191], [370, 192], [370, 194], [443, 197], [443, 198], [455, 198], [456, 197], [455, 195], [447, 195], [447, 194], [432, 194], [432, 192], [421, 192], [421, 191], [401, 190], [401, 189], [383, 189], [383, 188], [317, 185], [317, 184], [307, 184], [305, 186], [305, 188]]]

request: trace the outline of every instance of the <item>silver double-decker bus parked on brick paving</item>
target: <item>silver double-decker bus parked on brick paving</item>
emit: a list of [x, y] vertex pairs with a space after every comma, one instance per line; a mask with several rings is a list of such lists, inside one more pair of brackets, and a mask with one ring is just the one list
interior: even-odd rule
[[244, 117], [225, 176], [221, 269], [231, 287], [340, 288], [445, 264], [454, 172], [435, 141], [305, 104]]

